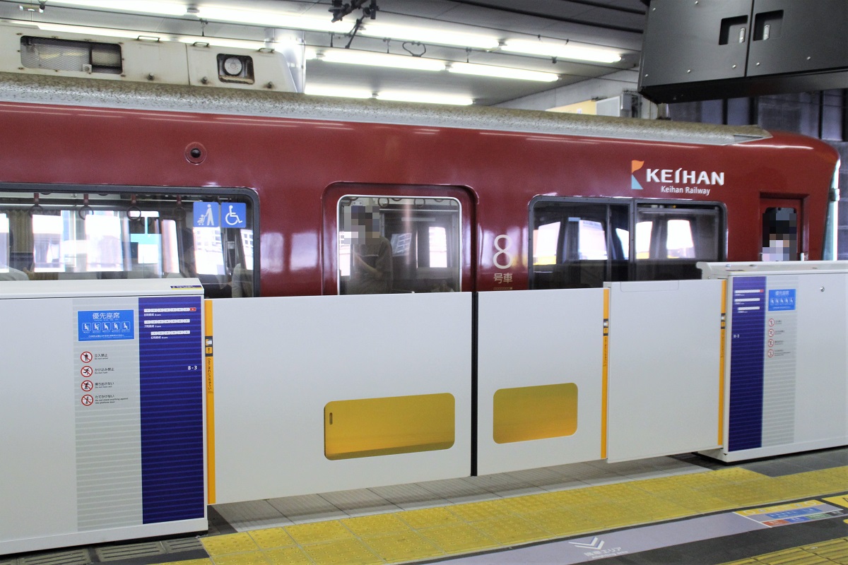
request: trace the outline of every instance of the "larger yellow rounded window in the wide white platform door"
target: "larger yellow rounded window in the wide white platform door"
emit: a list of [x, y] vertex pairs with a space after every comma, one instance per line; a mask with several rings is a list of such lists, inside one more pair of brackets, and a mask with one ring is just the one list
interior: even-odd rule
[[324, 455], [352, 459], [449, 449], [455, 399], [448, 393], [330, 402], [324, 407]]

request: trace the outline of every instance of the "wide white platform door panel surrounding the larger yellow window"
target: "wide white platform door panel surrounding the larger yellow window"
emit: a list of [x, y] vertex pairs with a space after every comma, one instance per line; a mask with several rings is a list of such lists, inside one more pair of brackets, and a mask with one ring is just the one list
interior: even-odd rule
[[[217, 300], [213, 315], [216, 502], [470, 474], [470, 293]], [[326, 456], [328, 403], [425, 395], [453, 396], [449, 448]]]

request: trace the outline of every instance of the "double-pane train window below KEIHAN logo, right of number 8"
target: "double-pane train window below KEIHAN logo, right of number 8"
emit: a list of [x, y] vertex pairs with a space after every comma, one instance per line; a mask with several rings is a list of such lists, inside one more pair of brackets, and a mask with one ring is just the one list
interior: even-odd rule
[[695, 263], [724, 255], [723, 208], [716, 204], [541, 197], [530, 213], [535, 289], [698, 279]]

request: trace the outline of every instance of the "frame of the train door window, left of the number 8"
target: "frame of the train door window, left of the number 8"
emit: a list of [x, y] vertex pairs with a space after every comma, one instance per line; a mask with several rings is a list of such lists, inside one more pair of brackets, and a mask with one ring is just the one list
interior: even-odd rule
[[[333, 246], [333, 249], [334, 249], [334, 252], [335, 252], [335, 259], [336, 259], [335, 279], [336, 279], [336, 292], [337, 292], [338, 296], [355, 296], [356, 294], [358, 294], [358, 293], [347, 292], [347, 291], [343, 292], [343, 283], [346, 283], [347, 281], [343, 281], [343, 273], [342, 273], [343, 253], [342, 253], [342, 249], [341, 249], [342, 248], [342, 237], [341, 237], [341, 235], [344, 233], [344, 230], [343, 230], [343, 223], [344, 223], [343, 202], [354, 201], [356, 199], [372, 199], [372, 200], [376, 200], [377, 202], [384, 200], [384, 201], [388, 202], [388, 204], [391, 204], [392, 202], [401, 202], [401, 201], [404, 201], [404, 200], [410, 200], [410, 201], [413, 202], [413, 206], [415, 206], [415, 202], [417, 202], [417, 201], [424, 201], [425, 205], [426, 205], [426, 202], [428, 200], [432, 200], [432, 201], [436, 201], [436, 202], [444, 202], [444, 201], [453, 202], [455, 204], [455, 208], [453, 208], [453, 210], [451, 210], [451, 212], [454, 214], [454, 219], [455, 219], [455, 233], [453, 235], [453, 237], [455, 237], [455, 243], [454, 243], [453, 246], [451, 246], [450, 245], [451, 236], [448, 235], [446, 237], [447, 247], [448, 247], [447, 253], [448, 253], [449, 266], [444, 268], [444, 269], [449, 269], [448, 270], [448, 272], [450, 274], [449, 279], [452, 281], [452, 284], [455, 285], [455, 288], [454, 288], [454, 286], [451, 286], [450, 283], [446, 282], [448, 288], [443, 290], [443, 291], [451, 291], [451, 292], [453, 292], [453, 291], [461, 292], [462, 291], [462, 277], [463, 277], [463, 240], [462, 240], [462, 237], [463, 237], [463, 235], [462, 235], [463, 208], [462, 208], [462, 202], [460, 201], [459, 198], [457, 198], [457, 197], [447, 197], [447, 196], [434, 196], [434, 195], [422, 196], [422, 195], [407, 194], [407, 193], [399, 193], [399, 194], [388, 195], [388, 194], [374, 194], [374, 193], [363, 193], [363, 192], [345, 192], [341, 196], [339, 196], [338, 198], [335, 199], [336, 241], [335, 241], [335, 245]], [[432, 228], [433, 226], [430, 225], [429, 227]], [[381, 219], [381, 235], [385, 235], [384, 218]], [[398, 235], [398, 234], [393, 234], [393, 235]], [[446, 230], [446, 235], [447, 235], [447, 230]], [[393, 259], [394, 259], [396, 257], [396, 254], [394, 252], [395, 241], [391, 241], [391, 243], [392, 243], [392, 248], [393, 248]], [[450, 253], [451, 253], [451, 251], [453, 252], [453, 254], [455, 256], [455, 265], [453, 267], [450, 267], [450, 262], [451, 262]], [[427, 267], [427, 269], [430, 269], [430, 267]], [[433, 269], [443, 269], [443, 268], [433, 268]], [[437, 291], [437, 290], [430, 289], [430, 291]], [[415, 293], [415, 292], [420, 292], [420, 291], [418, 291], [418, 290], [398, 291], [396, 289], [390, 289], [388, 294]], [[382, 293], [380, 293], [380, 294], [382, 294]]]

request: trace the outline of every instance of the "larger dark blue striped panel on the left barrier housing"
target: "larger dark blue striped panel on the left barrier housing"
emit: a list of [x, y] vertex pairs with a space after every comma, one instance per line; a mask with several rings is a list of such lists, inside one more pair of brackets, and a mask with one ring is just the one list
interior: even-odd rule
[[203, 328], [199, 296], [140, 298], [144, 523], [203, 518]]

